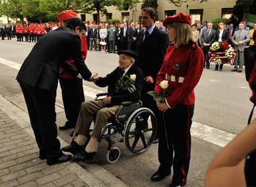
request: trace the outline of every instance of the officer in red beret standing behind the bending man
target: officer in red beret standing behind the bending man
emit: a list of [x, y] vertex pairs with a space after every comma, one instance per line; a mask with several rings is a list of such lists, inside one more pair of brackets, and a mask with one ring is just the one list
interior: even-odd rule
[[[58, 20], [61, 21], [63, 26], [66, 26], [67, 21], [70, 18], [74, 18], [76, 16], [77, 13], [73, 12], [72, 10], [64, 10], [59, 13]], [[87, 56], [87, 38], [84, 34], [81, 39], [81, 52], [83, 60], [85, 60]], [[69, 59], [69, 63], [75, 66], [72, 58]], [[83, 79], [74, 78], [69, 73], [67, 73], [67, 71], [62, 71], [60, 73], [60, 84], [67, 121], [64, 125], [61, 125], [59, 129], [73, 129], [77, 123], [80, 106], [83, 101], [85, 101], [85, 96], [83, 94]], [[70, 134], [70, 136], [72, 135], [73, 133]]]

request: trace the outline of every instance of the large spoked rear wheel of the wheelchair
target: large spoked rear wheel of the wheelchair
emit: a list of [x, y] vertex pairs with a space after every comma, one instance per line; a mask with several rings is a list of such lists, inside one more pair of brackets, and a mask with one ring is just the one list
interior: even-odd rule
[[127, 120], [124, 129], [124, 145], [128, 151], [132, 154], [140, 154], [147, 151], [155, 137], [155, 114], [148, 108], [135, 110]]

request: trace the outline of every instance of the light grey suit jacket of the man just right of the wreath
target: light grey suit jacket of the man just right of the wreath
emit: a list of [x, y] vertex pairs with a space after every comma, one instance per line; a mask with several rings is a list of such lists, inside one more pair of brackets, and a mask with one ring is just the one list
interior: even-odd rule
[[235, 42], [239, 42], [242, 41], [243, 44], [236, 46], [234, 44], [234, 50], [237, 51], [244, 51], [244, 48], [247, 46], [247, 42], [250, 41], [250, 36], [249, 36], [249, 31], [247, 30], [242, 30], [242, 32], [240, 32], [240, 30], [236, 31], [234, 33], [234, 36], [232, 37], [231, 41], [233, 42], [233, 44]]

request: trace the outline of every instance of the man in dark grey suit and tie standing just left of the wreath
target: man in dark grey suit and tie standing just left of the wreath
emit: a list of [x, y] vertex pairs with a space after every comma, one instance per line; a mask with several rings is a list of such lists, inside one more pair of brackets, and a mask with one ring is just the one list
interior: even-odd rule
[[202, 31], [201, 34], [201, 47], [203, 49], [203, 55], [205, 55], [205, 66], [207, 69], [210, 68], [208, 52], [211, 44], [215, 41], [216, 31], [213, 30], [213, 23], [207, 23], [207, 29]]

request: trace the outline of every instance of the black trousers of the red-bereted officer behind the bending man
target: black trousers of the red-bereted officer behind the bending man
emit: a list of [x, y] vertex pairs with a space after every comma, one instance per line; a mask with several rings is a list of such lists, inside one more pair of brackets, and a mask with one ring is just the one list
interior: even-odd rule
[[60, 79], [62, 100], [67, 121], [70, 125], [77, 124], [80, 106], [85, 101], [83, 79]]

